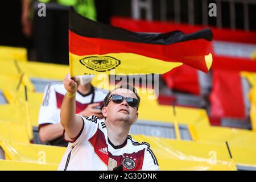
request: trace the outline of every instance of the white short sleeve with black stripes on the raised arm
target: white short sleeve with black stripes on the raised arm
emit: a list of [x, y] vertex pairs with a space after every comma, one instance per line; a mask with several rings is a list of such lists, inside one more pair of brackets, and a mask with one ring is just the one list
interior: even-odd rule
[[100, 120], [95, 115], [91, 115], [90, 117], [83, 117], [82, 118], [83, 124], [82, 128], [75, 139], [71, 139], [68, 137], [68, 134], [63, 131], [63, 138], [65, 141], [69, 142], [71, 146], [76, 146], [77, 144], [82, 143], [84, 140], [89, 140], [93, 135], [96, 133], [98, 129], [98, 121]]

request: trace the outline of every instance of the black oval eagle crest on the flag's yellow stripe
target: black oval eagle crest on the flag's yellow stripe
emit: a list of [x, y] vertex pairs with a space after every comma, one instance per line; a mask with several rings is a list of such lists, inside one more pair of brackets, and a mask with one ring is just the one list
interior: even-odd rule
[[115, 69], [121, 63], [118, 59], [111, 56], [90, 56], [79, 60], [86, 68], [97, 72], [106, 72]]

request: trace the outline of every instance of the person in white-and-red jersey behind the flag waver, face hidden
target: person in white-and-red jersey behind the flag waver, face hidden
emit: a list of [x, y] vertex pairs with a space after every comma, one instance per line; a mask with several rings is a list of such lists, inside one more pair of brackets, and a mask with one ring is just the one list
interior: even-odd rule
[[[76, 113], [84, 116], [96, 115], [103, 118], [101, 107], [108, 93], [92, 86], [94, 75], [79, 76], [81, 84], [77, 88]], [[66, 90], [63, 82], [51, 82], [44, 90], [44, 100], [39, 110], [39, 138], [41, 142], [53, 146], [68, 146], [63, 140], [63, 126], [60, 123], [60, 106]]]

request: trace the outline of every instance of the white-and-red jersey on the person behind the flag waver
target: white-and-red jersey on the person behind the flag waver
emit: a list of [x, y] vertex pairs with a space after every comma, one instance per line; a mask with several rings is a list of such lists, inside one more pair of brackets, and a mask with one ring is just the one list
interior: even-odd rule
[[[39, 127], [47, 124], [60, 123], [60, 107], [67, 90], [64, 88], [63, 82], [51, 82], [44, 90], [43, 104], [39, 110]], [[76, 94], [76, 113], [80, 113], [89, 104], [100, 102], [103, 105], [103, 100], [108, 94], [108, 91], [94, 88], [88, 94]]]

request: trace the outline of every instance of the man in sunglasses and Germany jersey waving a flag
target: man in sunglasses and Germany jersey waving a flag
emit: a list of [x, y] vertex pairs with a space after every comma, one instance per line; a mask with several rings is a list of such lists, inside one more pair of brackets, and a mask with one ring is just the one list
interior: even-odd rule
[[67, 90], [60, 118], [64, 139], [69, 142], [58, 170], [159, 170], [150, 145], [129, 135], [138, 118], [140, 97], [131, 85], [121, 85], [104, 99], [100, 120], [75, 113], [80, 78], [64, 78]]

